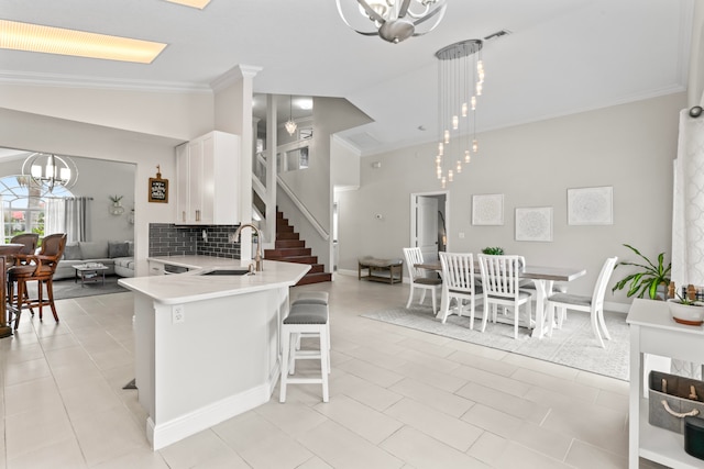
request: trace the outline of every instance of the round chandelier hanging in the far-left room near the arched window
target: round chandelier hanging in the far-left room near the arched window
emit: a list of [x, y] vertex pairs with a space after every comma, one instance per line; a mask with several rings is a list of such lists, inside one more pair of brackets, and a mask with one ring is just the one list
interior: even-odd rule
[[22, 176], [41, 187], [42, 192], [53, 192], [59, 186], [72, 188], [78, 180], [78, 168], [66, 156], [35, 153], [22, 164]]

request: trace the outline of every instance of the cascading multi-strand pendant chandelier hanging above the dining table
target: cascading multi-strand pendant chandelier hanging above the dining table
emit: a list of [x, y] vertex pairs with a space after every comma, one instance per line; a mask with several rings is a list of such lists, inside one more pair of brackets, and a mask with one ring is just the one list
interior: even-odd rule
[[436, 53], [439, 81], [436, 174], [442, 188], [479, 152], [476, 105], [484, 85], [482, 45], [480, 40], [461, 41]]

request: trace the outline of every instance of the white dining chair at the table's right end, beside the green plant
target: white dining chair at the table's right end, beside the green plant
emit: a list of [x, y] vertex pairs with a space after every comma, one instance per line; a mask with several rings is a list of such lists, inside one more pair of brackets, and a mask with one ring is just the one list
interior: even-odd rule
[[566, 310], [584, 311], [590, 313], [594, 336], [597, 338], [602, 348], [605, 347], [602, 332], [608, 340], [610, 340], [612, 337], [606, 330], [606, 323], [604, 323], [604, 294], [606, 293], [606, 287], [608, 280], [612, 278], [617, 260], [618, 257], [609, 257], [604, 261], [591, 297], [570, 293], [556, 293], [548, 297], [548, 335], [552, 335], [556, 311], [558, 328], [562, 328], [562, 322], [566, 317]]

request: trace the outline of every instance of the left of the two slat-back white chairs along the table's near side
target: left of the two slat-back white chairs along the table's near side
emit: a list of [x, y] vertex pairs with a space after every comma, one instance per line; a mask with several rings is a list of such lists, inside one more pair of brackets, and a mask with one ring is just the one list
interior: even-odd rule
[[474, 282], [474, 256], [471, 253], [440, 253], [442, 265], [442, 300], [440, 315], [442, 324], [450, 315], [450, 303], [457, 303], [458, 315], [462, 316], [465, 301], [470, 306], [470, 330], [474, 328], [475, 297], [482, 288]]

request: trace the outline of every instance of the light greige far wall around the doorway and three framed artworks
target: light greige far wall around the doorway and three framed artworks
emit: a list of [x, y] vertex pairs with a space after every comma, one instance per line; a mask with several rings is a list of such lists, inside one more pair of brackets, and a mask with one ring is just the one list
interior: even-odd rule
[[[636, 260], [624, 243], [651, 257], [666, 252], [669, 260], [672, 159], [685, 105], [685, 93], [676, 93], [481, 134], [480, 155], [449, 186], [448, 250], [502, 246], [530, 264], [585, 267], [587, 275], [570, 286], [582, 294], [591, 294], [606, 257]], [[440, 190], [435, 148], [363, 158], [362, 187], [339, 194], [340, 269], [356, 271], [364, 255], [403, 257], [410, 243], [410, 193]], [[371, 160], [382, 167], [373, 169], [365, 163]], [[566, 189], [597, 186], [614, 188], [614, 224], [569, 226]], [[503, 226], [472, 226], [472, 194], [483, 193], [505, 196]], [[514, 212], [525, 206], [553, 208], [551, 243], [514, 239]], [[613, 280], [626, 271], [619, 267]], [[623, 293], [608, 292], [606, 300], [629, 302]]]

